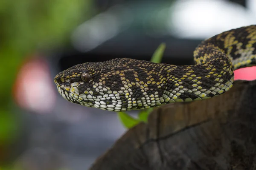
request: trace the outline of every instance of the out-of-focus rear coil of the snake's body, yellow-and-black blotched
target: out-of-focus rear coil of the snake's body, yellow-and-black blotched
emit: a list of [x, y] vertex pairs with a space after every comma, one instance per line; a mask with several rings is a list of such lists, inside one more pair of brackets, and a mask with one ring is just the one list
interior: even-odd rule
[[225, 31], [203, 41], [194, 51], [196, 64], [205, 63], [218, 55], [230, 59], [233, 70], [256, 65], [256, 26]]

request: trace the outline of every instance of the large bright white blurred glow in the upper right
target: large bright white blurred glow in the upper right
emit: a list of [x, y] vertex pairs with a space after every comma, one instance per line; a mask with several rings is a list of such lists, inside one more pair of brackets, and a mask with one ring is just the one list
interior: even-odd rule
[[[250, 3], [256, 6], [255, 0], [250, 0]], [[205, 39], [232, 28], [256, 23], [256, 16], [252, 12], [225, 0], [177, 0], [170, 8], [169, 16], [167, 27], [170, 33], [192, 39]]]

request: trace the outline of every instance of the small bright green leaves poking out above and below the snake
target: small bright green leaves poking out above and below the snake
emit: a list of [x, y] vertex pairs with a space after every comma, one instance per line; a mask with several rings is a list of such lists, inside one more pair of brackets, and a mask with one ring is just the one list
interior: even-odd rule
[[[151, 62], [160, 63], [163, 58], [163, 52], [166, 48], [166, 44], [162, 43], [159, 45], [159, 47], [156, 49], [154, 54], [151, 57]], [[120, 119], [120, 122], [125, 128], [131, 129], [135, 125], [139, 124], [140, 122], [147, 122], [148, 121], [148, 115], [153, 111], [153, 108], [149, 108], [146, 110], [142, 110], [139, 112], [138, 118], [134, 118], [130, 116], [128, 113], [125, 112], [118, 112], [118, 117]]]

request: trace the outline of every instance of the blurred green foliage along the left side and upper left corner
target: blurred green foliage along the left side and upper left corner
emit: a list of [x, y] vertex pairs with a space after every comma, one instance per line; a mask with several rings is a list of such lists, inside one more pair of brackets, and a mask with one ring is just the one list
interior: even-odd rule
[[92, 2], [0, 0], [0, 166], [19, 129], [12, 101], [18, 68], [29, 55], [68, 45], [73, 28], [92, 16]]

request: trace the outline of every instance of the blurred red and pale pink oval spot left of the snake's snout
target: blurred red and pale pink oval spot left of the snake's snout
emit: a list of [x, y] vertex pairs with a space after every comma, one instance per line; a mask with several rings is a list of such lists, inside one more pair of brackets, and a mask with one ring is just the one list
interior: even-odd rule
[[36, 113], [49, 113], [55, 105], [53, 88], [47, 62], [42, 58], [30, 58], [20, 68], [13, 96], [17, 104]]

